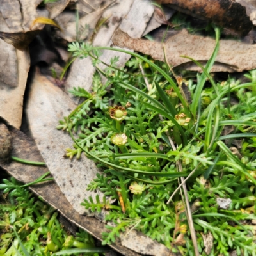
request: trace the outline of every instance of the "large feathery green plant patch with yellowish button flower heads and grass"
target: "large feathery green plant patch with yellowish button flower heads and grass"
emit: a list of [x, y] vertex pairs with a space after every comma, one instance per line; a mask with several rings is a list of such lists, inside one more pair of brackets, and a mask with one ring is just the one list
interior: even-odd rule
[[[107, 226], [103, 244], [136, 228], [182, 255], [229, 255], [234, 250], [237, 255], [256, 255], [250, 222], [256, 212], [254, 73], [247, 76], [249, 83], [214, 81], [209, 72], [218, 54], [220, 32], [215, 30], [216, 47], [205, 67], [184, 56], [202, 68], [196, 83], [176, 83], [168, 63], [135, 52], [69, 45], [74, 57], [90, 56], [97, 72], [92, 92], [71, 91], [86, 100], [58, 129], [74, 140], [75, 149], [68, 149], [67, 156], [84, 152], [103, 170], [88, 189], [99, 189], [106, 197], [82, 203], [91, 211], [109, 210], [106, 220], [114, 225]], [[109, 65], [103, 63], [103, 70], [102, 49], [132, 58], [121, 70], [116, 68], [118, 58], [113, 58]], [[180, 83], [188, 85], [191, 103]], [[180, 182], [186, 186], [177, 193]], [[218, 198], [231, 203], [222, 209]], [[202, 237], [209, 232], [214, 241], [206, 253]]]

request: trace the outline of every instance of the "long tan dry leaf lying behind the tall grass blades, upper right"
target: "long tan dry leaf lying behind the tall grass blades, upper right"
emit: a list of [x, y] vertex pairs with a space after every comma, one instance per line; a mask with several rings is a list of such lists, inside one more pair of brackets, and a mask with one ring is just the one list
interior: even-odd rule
[[[143, 39], [133, 39], [127, 33], [118, 29], [113, 36], [113, 44], [142, 52], [152, 56], [154, 60], [166, 60], [172, 67], [186, 68], [188, 70], [202, 71], [187, 58], [205, 63], [214, 51], [215, 40], [209, 37], [190, 35], [186, 30], [172, 36], [168, 42], [161, 44]], [[243, 44], [236, 40], [220, 40], [220, 50], [216, 63], [211, 72], [228, 71], [242, 72], [256, 68], [256, 45]]]

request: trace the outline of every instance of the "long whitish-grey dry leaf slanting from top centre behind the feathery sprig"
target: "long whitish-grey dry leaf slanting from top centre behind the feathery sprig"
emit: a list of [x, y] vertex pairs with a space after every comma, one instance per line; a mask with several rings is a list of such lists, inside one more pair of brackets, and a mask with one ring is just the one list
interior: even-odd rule
[[[127, 0], [111, 6], [103, 15], [103, 17], [110, 17], [108, 19], [108, 27], [102, 26], [99, 29], [93, 44], [97, 46], [110, 46], [111, 37], [118, 26], [131, 36], [141, 36], [153, 12], [154, 8], [148, 0]], [[114, 56], [119, 56], [120, 61], [118, 62], [118, 67], [123, 67], [130, 58], [127, 54], [115, 51], [103, 51], [100, 59], [109, 63]], [[85, 90], [90, 90], [94, 72], [95, 68], [92, 66], [89, 58], [83, 60], [77, 59], [74, 61], [74, 65], [72, 65], [70, 75], [68, 76], [66, 90], [70, 90], [74, 86], [81, 86]], [[70, 95], [70, 97], [72, 96]]]

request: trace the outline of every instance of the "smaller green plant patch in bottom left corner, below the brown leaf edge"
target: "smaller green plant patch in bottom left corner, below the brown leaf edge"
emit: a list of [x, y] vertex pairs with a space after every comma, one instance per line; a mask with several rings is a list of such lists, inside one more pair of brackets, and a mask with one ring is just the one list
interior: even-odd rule
[[96, 248], [90, 234], [80, 230], [68, 234], [58, 221], [58, 212], [24, 188], [13, 177], [3, 180], [0, 204], [0, 255], [94, 255], [106, 252]]

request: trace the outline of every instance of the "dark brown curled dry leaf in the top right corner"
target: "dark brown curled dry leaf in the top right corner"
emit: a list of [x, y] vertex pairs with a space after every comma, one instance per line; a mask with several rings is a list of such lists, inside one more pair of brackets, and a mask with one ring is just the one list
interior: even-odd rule
[[157, 0], [160, 4], [170, 4], [179, 12], [188, 13], [199, 19], [211, 20], [221, 27], [245, 36], [253, 28], [246, 9], [232, 0]]

